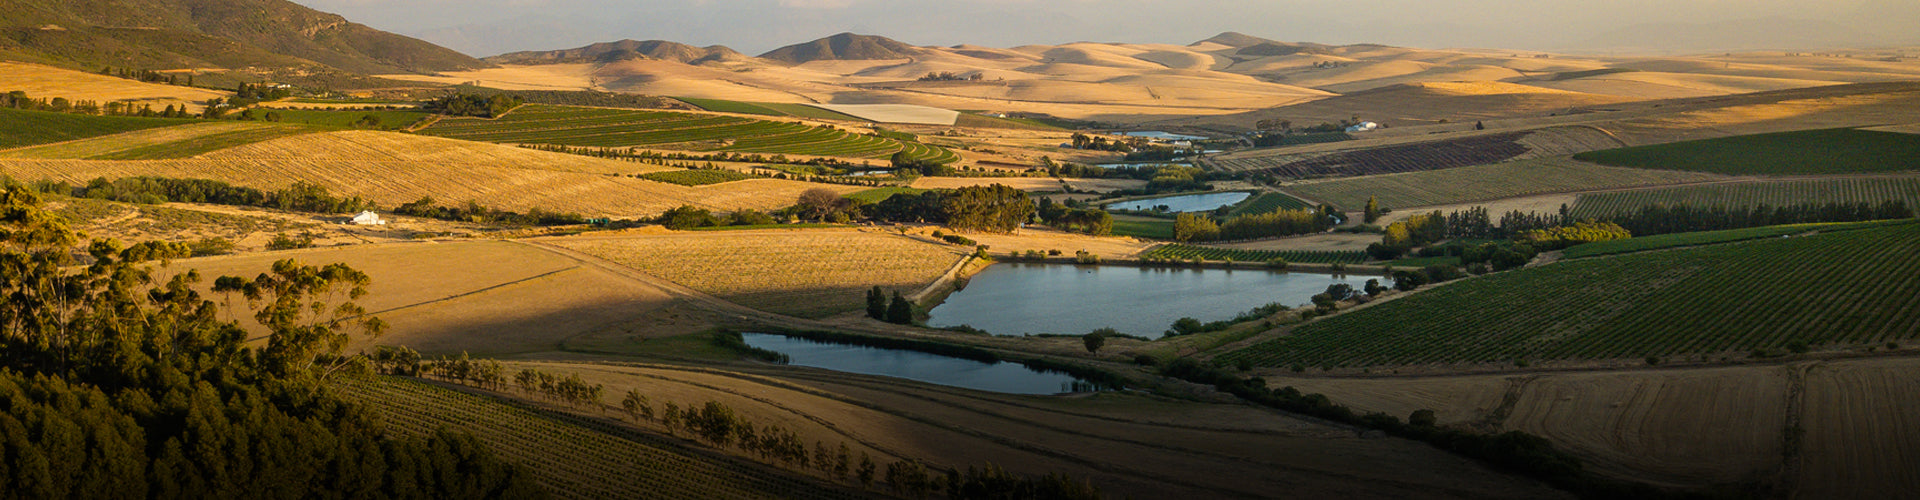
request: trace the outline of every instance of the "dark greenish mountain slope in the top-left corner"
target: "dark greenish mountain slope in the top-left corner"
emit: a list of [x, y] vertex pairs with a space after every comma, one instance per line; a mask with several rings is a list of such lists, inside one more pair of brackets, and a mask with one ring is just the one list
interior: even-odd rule
[[286, 0], [0, 0], [0, 54], [83, 69], [380, 75], [492, 67], [438, 44]]

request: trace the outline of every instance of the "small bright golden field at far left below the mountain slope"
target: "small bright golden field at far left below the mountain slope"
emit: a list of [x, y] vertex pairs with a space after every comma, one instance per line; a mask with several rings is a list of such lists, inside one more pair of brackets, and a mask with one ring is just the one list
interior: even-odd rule
[[200, 112], [205, 100], [228, 96], [228, 92], [198, 87], [140, 83], [52, 65], [0, 62], [0, 92], [6, 90], [23, 90], [31, 98], [152, 104], [154, 112], [167, 106], [184, 106], [190, 112]]

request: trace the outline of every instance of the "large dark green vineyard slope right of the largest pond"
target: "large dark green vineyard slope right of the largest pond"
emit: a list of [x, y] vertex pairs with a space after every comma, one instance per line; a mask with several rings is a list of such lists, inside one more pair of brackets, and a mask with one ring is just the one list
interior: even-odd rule
[[1557, 262], [1302, 325], [1265, 367], [1640, 360], [1920, 337], [1920, 223]]

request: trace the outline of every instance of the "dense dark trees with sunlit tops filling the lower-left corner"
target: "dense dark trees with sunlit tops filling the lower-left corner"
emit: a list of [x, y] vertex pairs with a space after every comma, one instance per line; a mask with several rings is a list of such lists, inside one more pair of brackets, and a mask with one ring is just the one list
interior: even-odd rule
[[[0, 492], [19, 498], [530, 498], [472, 437], [388, 438], [326, 379], [363, 369], [384, 323], [346, 265], [157, 279], [171, 242], [83, 242], [33, 190], [0, 185]], [[77, 256], [84, 256], [83, 263]], [[253, 310], [234, 310], [232, 298]], [[250, 344], [238, 317], [269, 331]]]

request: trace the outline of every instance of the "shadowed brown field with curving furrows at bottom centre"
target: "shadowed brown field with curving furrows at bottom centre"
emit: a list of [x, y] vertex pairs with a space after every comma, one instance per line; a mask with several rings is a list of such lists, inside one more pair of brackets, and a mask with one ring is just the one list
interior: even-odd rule
[[[1114, 498], [1298, 496], [1563, 498], [1534, 481], [1400, 438], [1361, 438], [1240, 404], [1135, 394], [1010, 396], [806, 367], [672, 367], [509, 362], [578, 373], [607, 394], [639, 390], [655, 408], [708, 400], [803, 442], [927, 460], [929, 467], [993, 462], [1018, 473], [1085, 477]], [[513, 392], [518, 394], [518, 392]], [[591, 412], [591, 410], [588, 410]], [[659, 429], [657, 423], [632, 423]]]

